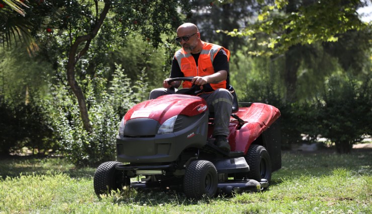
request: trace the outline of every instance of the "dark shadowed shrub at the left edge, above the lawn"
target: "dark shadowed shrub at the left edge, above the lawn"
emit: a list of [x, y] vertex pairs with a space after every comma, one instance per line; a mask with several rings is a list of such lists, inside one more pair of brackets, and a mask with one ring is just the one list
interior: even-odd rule
[[55, 149], [51, 118], [45, 109], [45, 102], [30, 99], [28, 104], [0, 102], [0, 153], [8, 155], [22, 147], [42, 150]]

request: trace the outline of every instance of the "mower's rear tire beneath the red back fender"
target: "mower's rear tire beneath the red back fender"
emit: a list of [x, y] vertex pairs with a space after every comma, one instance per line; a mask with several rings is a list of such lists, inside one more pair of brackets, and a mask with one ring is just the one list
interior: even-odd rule
[[245, 159], [249, 165], [248, 178], [258, 182], [261, 179], [270, 181], [271, 160], [266, 149], [260, 145], [251, 145]]

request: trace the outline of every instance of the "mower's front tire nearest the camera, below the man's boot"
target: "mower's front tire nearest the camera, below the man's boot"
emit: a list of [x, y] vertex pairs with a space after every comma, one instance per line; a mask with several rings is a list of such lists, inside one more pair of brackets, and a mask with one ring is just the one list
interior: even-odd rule
[[196, 160], [186, 168], [183, 178], [183, 191], [187, 197], [195, 199], [200, 199], [204, 195], [214, 197], [217, 186], [217, 170], [211, 162]]

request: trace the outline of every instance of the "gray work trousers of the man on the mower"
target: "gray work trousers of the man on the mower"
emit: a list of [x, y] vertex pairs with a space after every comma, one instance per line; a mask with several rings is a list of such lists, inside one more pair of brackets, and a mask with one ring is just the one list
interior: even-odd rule
[[[155, 99], [162, 95], [174, 94], [177, 89], [158, 88], [150, 92], [149, 99]], [[228, 136], [229, 123], [232, 111], [233, 96], [226, 89], [217, 89], [212, 93], [203, 93], [199, 95], [207, 101], [210, 112], [214, 112], [214, 130], [213, 136], [224, 135]]]

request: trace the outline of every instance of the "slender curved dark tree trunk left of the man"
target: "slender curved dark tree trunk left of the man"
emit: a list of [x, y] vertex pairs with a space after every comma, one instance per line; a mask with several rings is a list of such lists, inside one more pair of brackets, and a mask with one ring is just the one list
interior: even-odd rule
[[[84, 93], [82, 92], [79, 84], [77, 83], [75, 79], [75, 65], [76, 65], [76, 62], [80, 59], [80, 57], [83, 56], [86, 53], [86, 51], [89, 49], [90, 42], [92, 39], [96, 37], [98, 31], [100, 30], [107, 16], [107, 13], [110, 10], [110, 6], [111, 6], [111, 2], [108, 0], [105, 0], [105, 7], [102, 10], [99, 19], [96, 20], [95, 25], [92, 28], [92, 31], [89, 34], [77, 37], [76, 40], [72, 43], [70, 47], [70, 52], [68, 55], [68, 62], [67, 62], [68, 85], [70, 86], [71, 90], [73, 91], [73, 93], [75, 94], [77, 98], [83, 127], [88, 132], [91, 132], [92, 127], [91, 127], [90, 119], [88, 116], [88, 109], [86, 108], [86, 101], [85, 101]], [[98, 10], [98, 3], [96, 4], [96, 8]], [[78, 47], [83, 42], [85, 42], [85, 46], [77, 54]]]

